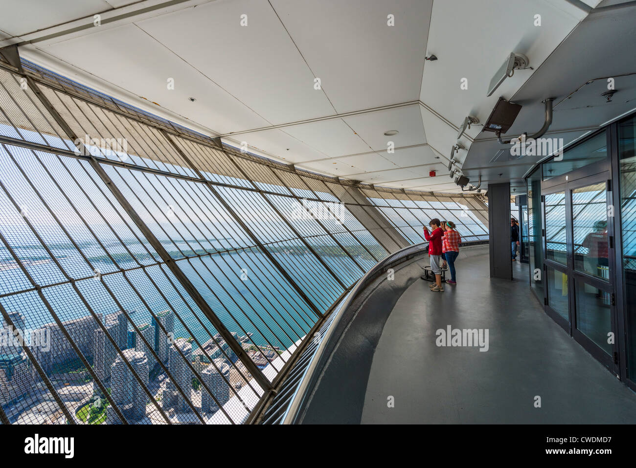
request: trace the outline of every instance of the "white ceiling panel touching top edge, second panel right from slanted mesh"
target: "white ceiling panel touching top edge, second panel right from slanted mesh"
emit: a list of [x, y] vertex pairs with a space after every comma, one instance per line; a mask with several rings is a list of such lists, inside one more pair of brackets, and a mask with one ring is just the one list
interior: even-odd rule
[[138, 24], [270, 123], [335, 113], [266, 1], [216, 1]]

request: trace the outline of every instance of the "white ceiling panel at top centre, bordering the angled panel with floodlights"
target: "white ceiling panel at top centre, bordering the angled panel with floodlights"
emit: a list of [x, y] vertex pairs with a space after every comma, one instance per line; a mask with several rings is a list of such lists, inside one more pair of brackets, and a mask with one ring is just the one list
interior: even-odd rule
[[338, 113], [417, 99], [432, 0], [272, 5]]

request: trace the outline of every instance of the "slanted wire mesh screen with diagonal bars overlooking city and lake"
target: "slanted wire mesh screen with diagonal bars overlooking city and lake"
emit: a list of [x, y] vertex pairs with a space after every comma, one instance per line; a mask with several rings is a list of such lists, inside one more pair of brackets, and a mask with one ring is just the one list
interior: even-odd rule
[[0, 66], [3, 423], [242, 423], [429, 212], [487, 222], [473, 198], [365, 192], [24, 65]]

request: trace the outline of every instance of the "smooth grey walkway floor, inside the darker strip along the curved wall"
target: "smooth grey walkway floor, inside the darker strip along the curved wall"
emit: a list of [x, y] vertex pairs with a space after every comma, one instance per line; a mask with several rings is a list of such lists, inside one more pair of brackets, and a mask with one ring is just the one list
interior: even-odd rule
[[[375, 350], [361, 422], [636, 423], [636, 394], [543, 312], [527, 264], [513, 272], [491, 280], [486, 254], [459, 259], [444, 292], [410, 286]], [[488, 351], [436, 346], [448, 325], [488, 329]]]

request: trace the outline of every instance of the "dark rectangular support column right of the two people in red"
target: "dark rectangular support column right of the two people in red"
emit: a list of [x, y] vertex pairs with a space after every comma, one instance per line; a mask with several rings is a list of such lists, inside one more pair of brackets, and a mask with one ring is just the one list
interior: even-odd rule
[[490, 277], [513, 279], [510, 244], [510, 182], [488, 184]]

